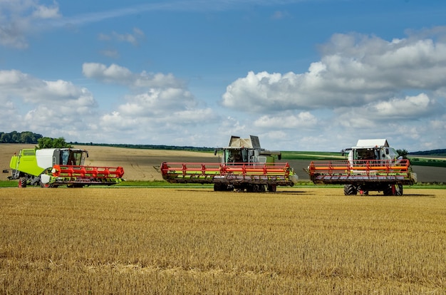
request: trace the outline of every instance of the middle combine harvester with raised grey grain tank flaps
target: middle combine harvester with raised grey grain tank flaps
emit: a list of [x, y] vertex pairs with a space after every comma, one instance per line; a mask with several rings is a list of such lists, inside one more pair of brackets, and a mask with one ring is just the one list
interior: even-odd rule
[[276, 192], [277, 186], [293, 186], [298, 177], [288, 163], [280, 160], [281, 152], [260, 148], [259, 138], [232, 136], [229, 147], [219, 148], [219, 162], [162, 162], [162, 178], [172, 183], [214, 184], [214, 191]]

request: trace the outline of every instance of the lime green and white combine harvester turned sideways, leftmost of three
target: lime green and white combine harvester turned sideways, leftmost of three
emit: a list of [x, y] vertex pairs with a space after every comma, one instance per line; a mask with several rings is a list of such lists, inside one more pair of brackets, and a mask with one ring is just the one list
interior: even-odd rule
[[84, 187], [115, 185], [122, 181], [123, 167], [84, 166], [86, 150], [75, 148], [24, 149], [11, 157], [9, 180], [19, 180], [19, 187]]

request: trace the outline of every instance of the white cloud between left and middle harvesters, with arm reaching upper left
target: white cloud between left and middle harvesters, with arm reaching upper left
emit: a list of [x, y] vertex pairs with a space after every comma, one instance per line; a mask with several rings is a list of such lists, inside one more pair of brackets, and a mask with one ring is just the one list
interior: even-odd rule
[[[124, 96], [124, 102], [110, 113], [100, 116], [95, 128], [103, 130], [107, 142], [119, 140], [119, 134], [126, 138], [159, 140], [167, 134], [181, 134], [180, 143], [185, 137], [200, 140], [205, 135], [190, 133], [212, 126], [219, 121], [219, 115], [209, 107], [202, 106], [187, 88], [172, 75], [162, 73], [132, 73], [118, 65], [104, 66], [98, 63], [85, 63], [83, 73], [103, 83], [120, 83], [128, 86], [132, 93]], [[111, 135], [111, 136], [110, 136]], [[105, 139], [106, 138], [106, 139]], [[199, 143], [199, 141], [197, 141]], [[190, 145], [190, 143], [189, 143]]]

